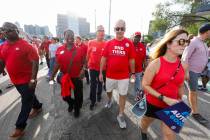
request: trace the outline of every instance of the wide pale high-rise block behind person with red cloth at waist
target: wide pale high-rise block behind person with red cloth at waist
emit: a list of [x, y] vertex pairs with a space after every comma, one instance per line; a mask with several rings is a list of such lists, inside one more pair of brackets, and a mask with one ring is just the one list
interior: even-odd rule
[[63, 33], [66, 29], [74, 31], [75, 35], [86, 36], [90, 33], [90, 23], [85, 18], [79, 18], [72, 13], [67, 15], [57, 15], [57, 36], [63, 38]]

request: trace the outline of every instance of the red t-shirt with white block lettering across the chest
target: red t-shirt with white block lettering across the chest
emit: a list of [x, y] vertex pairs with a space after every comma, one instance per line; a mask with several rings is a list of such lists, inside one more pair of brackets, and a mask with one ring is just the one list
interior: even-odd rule
[[106, 77], [119, 80], [129, 78], [129, 60], [135, 58], [134, 46], [129, 39], [108, 41], [103, 56], [107, 59]]

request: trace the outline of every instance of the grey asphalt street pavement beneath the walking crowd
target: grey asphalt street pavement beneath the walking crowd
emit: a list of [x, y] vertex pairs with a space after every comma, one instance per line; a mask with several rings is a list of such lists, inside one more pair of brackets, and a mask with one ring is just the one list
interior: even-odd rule
[[[125, 116], [127, 129], [120, 129], [117, 123], [118, 94], [114, 91], [114, 104], [111, 109], [105, 109], [106, 94], [102, 101], [96, 104], [93, 111], [89, 110], [89, 85], [83, 83], [84, 104], [81, 116], [74, 118], [67, 111], [67, 104], [60, 96], [58, 84], [49, 85], [46, 80], [47, 68], [41, 66], [38, 73], [37, 98], [43, 103], [43, 111], [39, 116], [28, 120], [26, 133], [21, 140], [140, 140], [139, 118], [131, 113], [134, 99], [131, 94], [126, 102]], [[9, 139], [9, 134], [15, 128], [15, 121], [20, 112], [20, 95], [14, 87], [5, 89], [9, 83], [8, 76], [0, 76], [0, 140]], [[210, 86], [210, 85], [208, 85]], [[130, 86], [130, 88], [132, 85]], [[186, 91], [187, 93], [187, 91]], [[210, 121], [210, 92], [199, 92], [199, 111]], [[155, 121], [148, 130], [151, 140], [162, 139], [160, 122]], [[200, 125], [191, 117], [185, 127], [177, 135], [177, 140], [209, 140], [210, 124]]]

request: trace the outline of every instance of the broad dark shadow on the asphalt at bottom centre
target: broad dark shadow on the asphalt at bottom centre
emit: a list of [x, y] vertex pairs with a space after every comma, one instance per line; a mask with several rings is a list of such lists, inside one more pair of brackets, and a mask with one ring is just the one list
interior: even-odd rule
[[90, 119], [72, 125], [63, 132], [61, 140], [139, 140], [139, 128], [127, 116], [127, 129], [120, 129], [117, 122], [118, 105], [102, 109]]

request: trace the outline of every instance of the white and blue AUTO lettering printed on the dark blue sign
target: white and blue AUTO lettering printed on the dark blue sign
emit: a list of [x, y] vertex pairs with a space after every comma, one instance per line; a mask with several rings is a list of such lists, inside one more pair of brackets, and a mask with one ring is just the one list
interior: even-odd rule
[[[189, 116], [190, 112], [179, 112], [178, 110], [165, 110], [164, 113], [173, 121], [177, 126], [183, 127], [186, 118]], [[171, 126], [171, 129], [176, 129], [176, 126]]]

